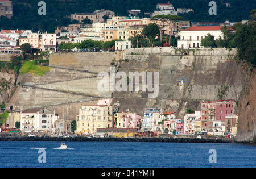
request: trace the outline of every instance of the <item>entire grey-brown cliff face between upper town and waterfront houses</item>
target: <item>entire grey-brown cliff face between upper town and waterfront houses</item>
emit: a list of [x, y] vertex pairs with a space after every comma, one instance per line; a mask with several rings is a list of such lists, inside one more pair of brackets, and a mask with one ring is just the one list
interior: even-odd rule
[[[114, 52], [101, 53], [100, 56], [96, 53], [93, 53], [94, 56], [89, 53], [73, 56], [55, 54], [51, 57], [51, 65], [75, 70], [53, 67], [43, 77], [23, 75], [18, 79], [21, 83], [35, 86], [20, 86], [9, 103], [19, 106], [20, 110], [42, 106], [56, 109], [60, 116], [65, 114], [69, 105], [68, 109], [72, 109], [73, 114], [68, 113], [68, 118], [75, 120], [79, 106], [84, 105], [86, 101], [96, 100], [96, 97], [106, 98], [112, 94], [112, 91], [104, 93], [97, 89], [100, 81], [97, 73], [109, 72], [110, 63], [114, 58], [123, 59], [115, 66], [115, 70], [125, 72], [128, 78], [129, 72], [159, 72], [159, 95], [156, 98], [148, 98], [148, 93], [152, 92], [114, 91], [113, 103], [120, 103], [119, 111], [129, 109], [130, 112], [143, 115], [144, 108], [159, 107], [163, 111], [176, 111], [179, 114], [177, 117], [181, 118], [188, 108], [200, 110], [203, 100], [239, 100], [237, 140], [255, 140], [256, 72], [243, 73], [245, 69], [232, 60], [235, 49], [181, 51], [171, 47], [132, 48], [118, 53], [119, 58]], [[104, 57], [106, 54], [109, 56]], [[94, 76], [77, 69], [89, 70], [96, 74]], [[152, 78], [154, 79], [154, 76]], [[183, 84], [179, 84], [181, 78], [184, 80]], [[118, 79], [115, 80], [117, 81]]]

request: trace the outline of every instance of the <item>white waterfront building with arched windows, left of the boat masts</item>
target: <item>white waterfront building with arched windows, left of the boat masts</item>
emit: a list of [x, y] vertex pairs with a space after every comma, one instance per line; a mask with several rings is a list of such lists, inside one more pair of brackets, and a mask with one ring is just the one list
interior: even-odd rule
[[20, 113], [21, 131], [49, 131], [51, 130], [54, 113], [47, 109], [28, 109]]

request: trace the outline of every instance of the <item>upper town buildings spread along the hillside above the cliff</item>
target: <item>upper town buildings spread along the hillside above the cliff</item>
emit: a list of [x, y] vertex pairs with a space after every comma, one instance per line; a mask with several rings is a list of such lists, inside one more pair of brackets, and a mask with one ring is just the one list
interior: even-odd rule
[[[0, 1], [2, 2], [2, 1]], [[9, 13], [1, 14], [7, 17], [11, 17], [13, 6], [11, 1], [3, 1], [3, 6], [6, 9], [10, 9]], [[152, 14], [147, 14], [148, 18], [138, 18], [136, 15], [140, 10], [130, 10], [130, 16], [115, 16], [115, 13], [110, 10], [101, 9], [95, 10], [93, 13], [75, 13], [67, 15], [72, 22], [67, 27], [56, 27], [55, 33], [46, 32], [32, 32], [32, 30], [12, 30], [2, 29], [0, 31], [0, 48], [1, 53], [6, 54], [21, 54], [22, 50], [20, 46], [23, 44], [30, 44], [31, 52], [40, 53], [41, 51], [49, 51], [50, 53], [61, 51], [60, 46], [64, 43], [81, 43], [84, 40], [94, 41], [112, 41], [112, 40], [123, 40], [129, 41], [131, 39], [138, 38], [141, 35], [143, 28], [148, 26], [150, 23], [160, 24], [161, 20], [152, 19], [155, 15], [177, 15], [193, 12], [192, 9], [177, 8], [168, 3], [158, 3], [156, 5], [158, 11], [154, 11]], [[222, 35], [222, 26], [227, 26], [230, 33], [234, 33], [235, 30], [232, 26], [236, 22], [220, 22], [220, 23], [202, 23], [202, 22], [189, 22], [184, 20], [174, 20], [172, 23], [164, 23], [161, 27], [161, 31], [164, 36], [175, 36], [179, 38], [177, 41], [177, 48], [201, 48], [204, 47], [200, 40], [207, 34], [211, 34], [213, 39], [225, 39]], [[247, 20], [243, 20], [241, 23], [247, 24]], [[136, 44], [131, 44], [133, 47]], [[131, 48], [122, 47], [118, 50]], [[168, 44], [171, 45], [171, 44]], [[138, 41], [137, 41], [138, 47]], [[66, 48], [73, 52], [86, 52], [89, 49], [79, 48]], [[101, 48], [104, 50], [104, 47]], [[39, 52], [38, 52], [39, 51]], [[95, 47], [90, 49], [95, 51]], [[3, 60], [10, 60], [9, 56], [2, 55]]]

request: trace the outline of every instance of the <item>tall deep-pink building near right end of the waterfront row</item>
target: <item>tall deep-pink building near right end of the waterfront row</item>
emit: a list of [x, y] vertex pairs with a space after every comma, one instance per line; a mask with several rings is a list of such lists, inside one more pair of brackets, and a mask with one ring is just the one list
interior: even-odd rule
[[216, 120], [225, 122], [227, 114], [234, 113], [234, 100], [217, 100], [216, 102]]

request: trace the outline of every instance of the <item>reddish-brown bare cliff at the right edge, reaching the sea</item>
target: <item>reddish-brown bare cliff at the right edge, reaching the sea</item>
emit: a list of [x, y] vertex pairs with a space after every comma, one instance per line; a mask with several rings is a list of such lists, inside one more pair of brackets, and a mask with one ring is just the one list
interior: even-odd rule
[[256, 69], [243, 70], [242, 86], [236, 140], [256, 143]]

